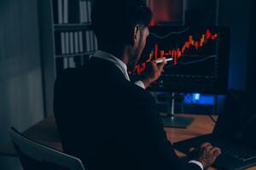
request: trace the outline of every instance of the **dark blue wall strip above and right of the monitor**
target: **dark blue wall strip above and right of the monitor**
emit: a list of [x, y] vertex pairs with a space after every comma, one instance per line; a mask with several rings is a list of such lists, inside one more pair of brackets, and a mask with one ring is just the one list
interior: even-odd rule
[[253, 0], [220, 0], [219, 25], [230, 26], [230, 88], [247, 87], [248, 33], [250, 2]]

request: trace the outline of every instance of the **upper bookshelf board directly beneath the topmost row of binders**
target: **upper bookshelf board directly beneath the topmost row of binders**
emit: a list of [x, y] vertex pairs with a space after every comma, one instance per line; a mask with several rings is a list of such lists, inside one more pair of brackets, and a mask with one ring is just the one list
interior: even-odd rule
[[79, 23], [79, 24], [55, 24], [55, 31], [66, 31], [66, 30], [81, 30], [90, 29], [90, 23]]

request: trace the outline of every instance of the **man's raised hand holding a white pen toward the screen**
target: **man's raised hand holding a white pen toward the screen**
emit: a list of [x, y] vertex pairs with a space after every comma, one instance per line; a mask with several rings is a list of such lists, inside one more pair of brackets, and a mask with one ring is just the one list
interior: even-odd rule
[[148, 88], [148, 86], [152, 83], [157, 81], [159, 77], [161, 76], [161, 73], [164, 71], [164, 67], [166, 65], [166, 58], [163, 59], [163, 62], [160, 65], [156, 64], [156, 61], [151, 61], [150, 65], [148, 65], [148, 71], [146, 77], [142, 80], [144, 83], [145, 88]]

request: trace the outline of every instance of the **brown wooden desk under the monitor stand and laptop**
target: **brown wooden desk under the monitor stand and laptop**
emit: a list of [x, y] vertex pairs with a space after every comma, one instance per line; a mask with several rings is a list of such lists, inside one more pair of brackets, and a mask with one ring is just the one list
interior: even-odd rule
[[[192, 116], [195, 118], [195, 122], [193, 122], [187, 129], [165, 128], [167, 137], [172, 142], [178, 142], [183, 139], [190, 139], [212, 132], [214, 123], [208, 116], [182, 116]], [[41, 144], [46, 144], [49, 147], [55, 148], [56, 150], [62, 150], [61, 139], [59, 137], [59, 133], [57, 132], [54, 116], [49, 116], [48, 118], [44, 119], [44, 121], [38, 122], [36, 125], [28, 128], [24, 134]], [[17, 156], [12, 144], [8, 144], [7, 146], [0, 148], [0, 155]], [[177, 155], [183, 156], [183, 154], [178, 151]], [[209, 170], [213, 170], [213, 168], [210, 168]], [[251, 167], [247, 170], [256, 170], [256, 167]]]

